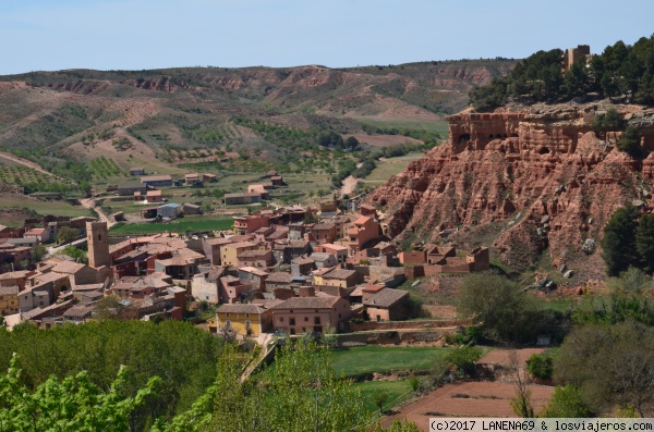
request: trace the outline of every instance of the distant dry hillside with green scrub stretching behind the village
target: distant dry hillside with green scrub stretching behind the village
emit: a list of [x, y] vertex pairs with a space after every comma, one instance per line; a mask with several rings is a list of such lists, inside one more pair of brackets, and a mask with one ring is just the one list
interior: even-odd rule
[[480, 60], [343, 70], [71, 70], [0, 76], [0, 147], [23, 151], [48, 171], [99, 156], [123, 170], [141, 164], [165, 171], [230, 151], [292, 163], [299, 145], [265, 136], [251, 127], [254, 122], [286, 126], [304, 140], [304, 149], [315, 145], [320, 131], [398, 134], [385, 127], [388, 122], [425, 131], [465, 107], [470, 88], [506, 75], [513, 64]]

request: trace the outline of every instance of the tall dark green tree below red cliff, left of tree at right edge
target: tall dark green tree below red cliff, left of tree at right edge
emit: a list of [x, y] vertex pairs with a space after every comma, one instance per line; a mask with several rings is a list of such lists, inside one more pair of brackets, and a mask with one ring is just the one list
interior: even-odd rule
[[601, 242], [602, 257], [609, 275], [617, 276], [630, 266], [639, 264], [635, 250], [637, 227], [638, 213], [633, 206], [616, 210], [604, 226], [604, 238]]

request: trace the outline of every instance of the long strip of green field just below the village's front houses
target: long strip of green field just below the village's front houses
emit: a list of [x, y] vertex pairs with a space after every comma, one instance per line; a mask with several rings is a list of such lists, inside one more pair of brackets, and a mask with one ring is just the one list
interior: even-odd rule
[[362, 346], [337, 350], [332, 366], [338, 374], [346, 377], [371, 372], [428, 370], [437, 358], [449, 349], [424, 346]]

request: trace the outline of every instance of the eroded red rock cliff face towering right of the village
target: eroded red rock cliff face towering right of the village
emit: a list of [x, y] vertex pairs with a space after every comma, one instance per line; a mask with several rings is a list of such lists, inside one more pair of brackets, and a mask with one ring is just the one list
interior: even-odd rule
[[[589, 276], [602, 275], [601, 254], [586, 257], [581, 247], [589, 237], [602, 238], [605, 222], [625, 203], [643, 199], [653, 207], [654, 157], [638, 161], [598, 139], [590, 124], [601, 108], [451, 115], [448, 143], [366, 200], [385, 206], [388, 234], [400, 242], [495, 224], [492, 246], [510, 264], [532, 264], [549, 248], [556, 262], [584, 256], [597, 268]], [[654, 113], [616, 108], [642, 120], [643, 146], [653, 149]]]

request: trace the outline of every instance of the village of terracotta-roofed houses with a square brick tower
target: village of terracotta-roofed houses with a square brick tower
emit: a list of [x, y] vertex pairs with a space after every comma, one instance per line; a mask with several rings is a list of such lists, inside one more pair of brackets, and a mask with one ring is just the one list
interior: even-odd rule
[[[85, 242], [88, 250], [87, 264], [51, 255], [34, 270], [0, 274], [5, 325], [29, 321], [48, 329], [106, 317], [183, 320], [190, 308], [215, 307], [206, 328], [239, 340], [372, 330], [376, 326], [370, 323], [383, 322], [391, 329], [389, 323], [420, 313], [410, 293], [398, 288], [407, 280], [489, 268], [487, 248], [463, 252], [453, 246], [421, 245], [399, 250], [370, 205], [352, 201], [347, 211], [334, 198], [314, 206], [257, 205], [270, 187], [283, 183], [276, 172], [266, 176], [269, 183], [225, 196], [226, 203], [256, 206], [250, 214], [234, 215], [228, 231], [117, 237], [106, 221], [89, 217], [27, 220], [23, 229], [0, 226], [0, 249], [15, 263], [38, 244], [52, 242], [63, 227], [75, 230], [75, 244]], [[186, 175], [187, 184], [197, 181], [198, 175]], [[143, 176], [142, 183], [117, 189], [135, 200], [145, 195], [147, 202], [150, 197], [161, 202], [155, 187], [168, 182], [171, 176]], [[195, 211], [202, 212], [170, 202], [144, 209], [143, 215], [171, 219]]]

